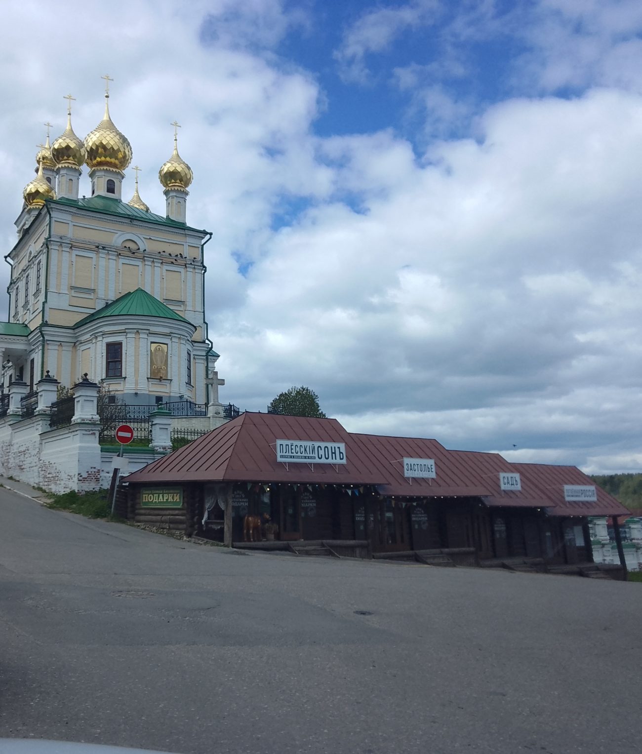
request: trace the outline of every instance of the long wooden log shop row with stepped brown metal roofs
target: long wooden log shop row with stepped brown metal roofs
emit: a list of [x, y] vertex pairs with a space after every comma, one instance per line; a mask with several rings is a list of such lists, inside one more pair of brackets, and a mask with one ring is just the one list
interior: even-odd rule
[[124, 484], [128, 516], [189, 536], [435, 565], [591, 563], [588, 516], [626, 513], [577, 467], [251, 412]]

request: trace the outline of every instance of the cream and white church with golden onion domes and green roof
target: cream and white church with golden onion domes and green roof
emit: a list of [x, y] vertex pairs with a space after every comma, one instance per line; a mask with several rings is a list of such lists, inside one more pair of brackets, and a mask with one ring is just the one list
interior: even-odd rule
[[204, 319], [211, 233], [187, 222], [193, 173], [178, 152], [178, 124], [174, 152], [158, 171], [165, 216], [149, 211], [137, 175], [123, 201], [132, 148], [109, 114], [104, 78], [103, 119], [79, 138], [68, 95], [66, 129], [51, 145], [47, 136], [23, 191], [17, 242], [5, 256], [2, 388], [22, 380], [34, 391], [45, 375], [71, 388], [88, 375], [127, 404], [207, 403], [218, 358]]

